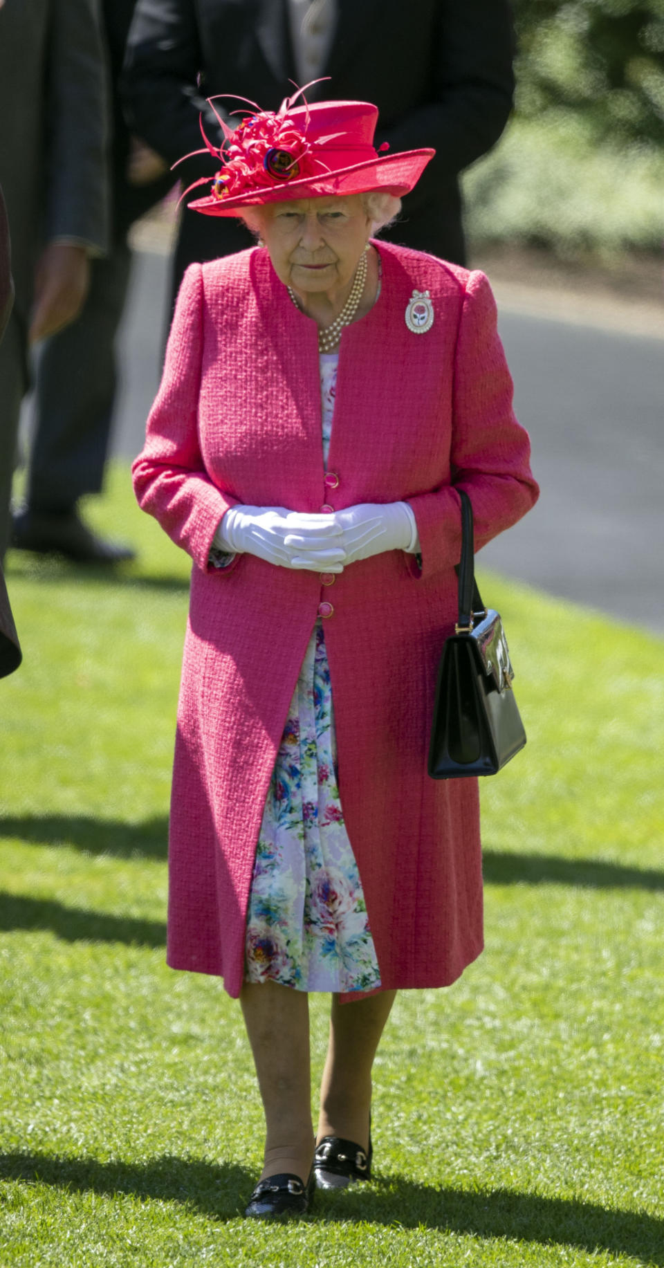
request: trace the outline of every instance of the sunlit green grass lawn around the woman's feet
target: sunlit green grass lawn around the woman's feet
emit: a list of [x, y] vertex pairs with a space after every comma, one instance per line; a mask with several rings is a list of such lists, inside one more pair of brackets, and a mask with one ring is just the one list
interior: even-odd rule
[[482, 787], [485, 954], [397, 1000], [374, 1182], [257, 1226], [238, 1006], [163, 964], [188, 560], [122, 468], [90, 514], [141, 562], [8, 560], [0, 1268], [664, 1265], [664, 645], [482, 577], [528, 730]]

